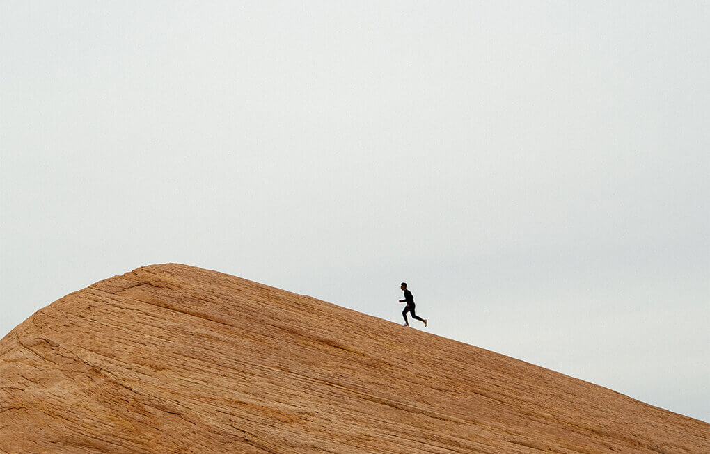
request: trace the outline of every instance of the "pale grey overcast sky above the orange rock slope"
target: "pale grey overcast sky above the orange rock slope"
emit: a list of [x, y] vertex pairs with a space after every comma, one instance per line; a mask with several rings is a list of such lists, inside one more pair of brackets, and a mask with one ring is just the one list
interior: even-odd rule
[[2, 0], [0, 336], [151, 263], [398, 323], [405, 280], [427, 331], [710, 421], [708, 23]]

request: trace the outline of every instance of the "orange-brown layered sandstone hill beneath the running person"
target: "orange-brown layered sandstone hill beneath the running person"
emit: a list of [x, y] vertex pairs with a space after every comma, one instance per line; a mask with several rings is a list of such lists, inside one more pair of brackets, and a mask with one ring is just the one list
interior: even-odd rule
[[197, 267], [68, 294], [0, 341], [6, 453], [708, 453], [710, 425]]

